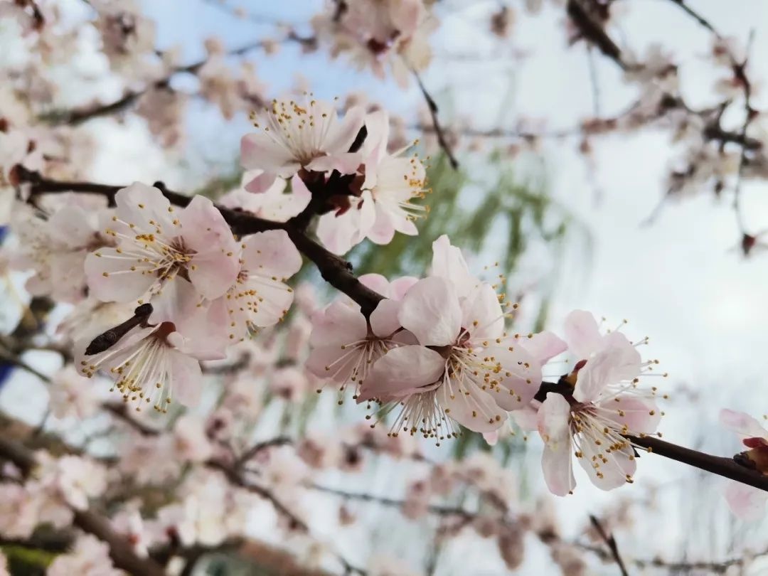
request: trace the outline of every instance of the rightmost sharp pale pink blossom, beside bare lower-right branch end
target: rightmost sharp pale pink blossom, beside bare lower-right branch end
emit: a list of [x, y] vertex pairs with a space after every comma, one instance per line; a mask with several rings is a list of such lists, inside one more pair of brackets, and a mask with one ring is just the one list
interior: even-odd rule
[[545, 481], [555, 495], [572, 492], [575, 452], [594, 485], [618, 488], [637, 468], [626, 436], [653, 433], [660, 420], [654, 392], [638, 388], [644, 364], [623, 334], [602, 336], [594, 317], [581, 310], [568, 316], [565, 333], [579, 361], [567, 378], [575, 379], [572, 396], [549, 392], [538, 410]]

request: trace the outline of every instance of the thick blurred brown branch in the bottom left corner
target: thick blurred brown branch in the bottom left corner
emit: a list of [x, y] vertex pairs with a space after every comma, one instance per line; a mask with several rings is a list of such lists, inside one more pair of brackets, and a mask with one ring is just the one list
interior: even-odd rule
[[[0, 435], [0, 457], [13, 462], [28, 475], [35, 468], [35, 455], [24, 445]], [[74, 525], [96, 536], [109, 545], [109, 555], [114, 565], [129, 574], [142, 576], [163, 576], [164, 569], [151, 558], [139, 558], [131, 543], [112, 528], [110, 521], [90, 510], [73, 510]]]

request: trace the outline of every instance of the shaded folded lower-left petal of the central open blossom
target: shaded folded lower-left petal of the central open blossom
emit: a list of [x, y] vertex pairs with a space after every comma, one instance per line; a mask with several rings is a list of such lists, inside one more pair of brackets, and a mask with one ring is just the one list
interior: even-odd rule
[[445, 372], [445, 358], [424, 346], [400, 346], [376, 361], [362, 382], [358, 402], [372, 398], [389, 399], [419, 393]]

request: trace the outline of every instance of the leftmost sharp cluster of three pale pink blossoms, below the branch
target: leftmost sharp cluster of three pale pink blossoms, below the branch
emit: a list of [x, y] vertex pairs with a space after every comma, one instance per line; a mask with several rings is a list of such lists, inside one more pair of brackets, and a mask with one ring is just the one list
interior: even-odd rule
[[108, 373], [140, 406], [164, 411], [176, 397], [193, 406], [199, 360], [225, 357], [228, 346], [286, 314], [293, 290], [283, 280], [301, 267], [300, 254], [283, 230], [236, 240], [201, 196], [177, 210], [157, 188], [136, 183], [115, 204], [104, 230], [113, 246], [88, 254], [85, 276], [91, 296], [139, 308], [117, 343], [94, 350], [95, 334], [81, 341], [78, 370]]

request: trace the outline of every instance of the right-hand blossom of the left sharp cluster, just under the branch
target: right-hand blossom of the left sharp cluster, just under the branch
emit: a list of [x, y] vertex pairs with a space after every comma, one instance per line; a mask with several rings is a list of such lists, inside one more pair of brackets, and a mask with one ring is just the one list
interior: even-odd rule
[[301, 268], [301, 254], [285, 230], [253, 234], [241, 246], [240, 271], [223, 296], [211, 304], [211, 313], [226, 318], [231, 342], [243, 340], [250, 330], [273, 326], [293, 303], [293, 290], [284, 280]]

